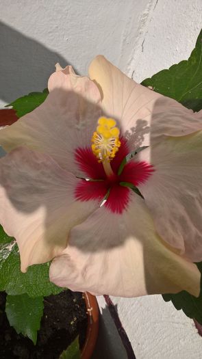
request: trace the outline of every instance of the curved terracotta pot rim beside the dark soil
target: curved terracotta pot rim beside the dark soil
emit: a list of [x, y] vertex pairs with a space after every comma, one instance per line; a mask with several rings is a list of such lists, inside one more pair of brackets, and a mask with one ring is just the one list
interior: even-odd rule
[[81, 349], [81, 359], [90, 359], [97, 342], [99, 329], [99, 306], [94, 295], [84, 293], [86, 309], [88, 313], [88, 327], [86, 332], [86, 341]]

